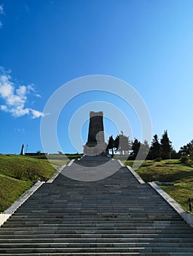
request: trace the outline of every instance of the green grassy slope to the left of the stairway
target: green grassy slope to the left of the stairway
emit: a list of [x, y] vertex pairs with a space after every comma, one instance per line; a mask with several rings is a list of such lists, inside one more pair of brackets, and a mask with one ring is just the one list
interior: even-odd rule
[[37, 180], [55, 173], [47, 160], [0, 154], [0, 212], [6, 210]]

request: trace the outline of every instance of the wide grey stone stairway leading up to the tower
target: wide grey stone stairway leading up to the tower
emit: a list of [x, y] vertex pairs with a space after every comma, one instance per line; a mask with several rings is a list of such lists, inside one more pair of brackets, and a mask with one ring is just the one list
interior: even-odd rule
[[117, 172], [98, 181], [60, 173], [43, 184], [0, 227], [0, 255], [193, 255], [192, 227], [149, 184], [100, 157], [64, 170], [85, 165]]

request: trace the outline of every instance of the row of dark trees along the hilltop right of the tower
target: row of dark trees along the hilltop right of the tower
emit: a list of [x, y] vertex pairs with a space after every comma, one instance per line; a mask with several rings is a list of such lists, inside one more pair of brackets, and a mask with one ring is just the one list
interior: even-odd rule
[[189, 157], [191, 154], [193, 155], [193, 140], [181, 146], [181, 149], [176, 152], [168, 137], [167, 130], [164, 131], [160, 140], [157, 135], [154, 135], [151, 145], [149, 145], [147, 140], [141, 143], [140, 140], [134, 138], [132, 141], [123, 132], [120, 132], [115, 139], [113, 136], [109, 137], [107, 146], [112, 157], [119, 151], [119, 155], [128, 157], [128, 159], [135, 159], [140, 148], [142, 159], [179, 159], [183, 156]]

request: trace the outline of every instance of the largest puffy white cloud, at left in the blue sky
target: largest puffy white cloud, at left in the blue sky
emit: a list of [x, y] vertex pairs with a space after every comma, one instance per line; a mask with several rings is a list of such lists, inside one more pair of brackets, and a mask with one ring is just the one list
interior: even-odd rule
[[11, 76], [2, 68], [0, 72], [2, 73], [0, 73], [0, 97], [5, 102], [4, 105], [0, 105], [0, 110], [11, 113], [15, 117], [30, 115], [34, 119], [44, 116], [44, 113], [39, 110], [25, 107], [28, 94], [31, 91], [35, 92], [34, 86], [19, 86], [15, 89], [15, 84], [12, 83]]

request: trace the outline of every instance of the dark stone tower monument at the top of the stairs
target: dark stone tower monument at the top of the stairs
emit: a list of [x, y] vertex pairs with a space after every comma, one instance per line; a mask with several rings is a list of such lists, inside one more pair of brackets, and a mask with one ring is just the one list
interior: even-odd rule
[[84, 145], [84, 154], [90, 156], [106, 155], [107, 144], [104, 138], [103, 112], [90, 111], [88, 139]]

